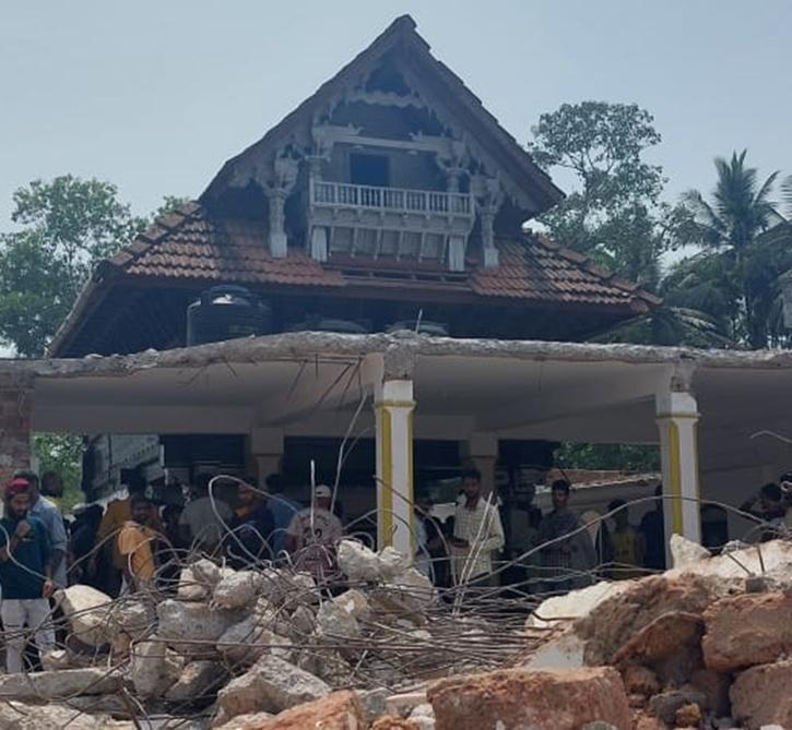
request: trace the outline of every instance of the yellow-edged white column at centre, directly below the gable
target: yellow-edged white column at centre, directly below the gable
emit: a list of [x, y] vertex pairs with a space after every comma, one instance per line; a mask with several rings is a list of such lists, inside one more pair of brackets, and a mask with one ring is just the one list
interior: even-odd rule
[[377, 415], [377, 544], [415, 553], [413, 517], [413, 381], [385, 380]]

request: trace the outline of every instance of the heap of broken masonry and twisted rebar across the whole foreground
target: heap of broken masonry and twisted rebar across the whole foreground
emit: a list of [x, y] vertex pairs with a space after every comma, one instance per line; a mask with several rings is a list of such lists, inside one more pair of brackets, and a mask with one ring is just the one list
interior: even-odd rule
[[792, 728], [792, 543], [672, 551], [665, 574], [551, 598], [528, 620], [507, 600], [450, 606], [404, 557], [352, 540], [340, 591], [206, 559], [167, 594], [72, 586], [66, 650], [0, 674], [0, 728]]

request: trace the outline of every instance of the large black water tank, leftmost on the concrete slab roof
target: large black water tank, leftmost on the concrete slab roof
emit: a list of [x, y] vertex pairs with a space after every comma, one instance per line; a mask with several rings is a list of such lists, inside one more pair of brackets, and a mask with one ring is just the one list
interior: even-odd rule
[[187, 308], [188, 345], [267, 335], [271, 332], [270, 308], [241, 286], [212, 287]]

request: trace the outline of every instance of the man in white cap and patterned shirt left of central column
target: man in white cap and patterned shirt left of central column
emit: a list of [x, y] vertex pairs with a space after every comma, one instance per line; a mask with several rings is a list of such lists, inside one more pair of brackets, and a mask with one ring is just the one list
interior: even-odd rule
[[314, 489], [312, 504], [300, 510], [286, 530], [286, 550], [298, 571], [310, 573], [317, 585], [336, 576], [335, 547], [342, 537], [341, 520], [330, 511], [332, 491], [326, 484]]

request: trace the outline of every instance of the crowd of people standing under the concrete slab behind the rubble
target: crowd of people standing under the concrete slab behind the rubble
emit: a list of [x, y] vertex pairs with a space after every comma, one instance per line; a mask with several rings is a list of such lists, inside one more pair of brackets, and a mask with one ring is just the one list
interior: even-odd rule
[[[265, 488], [256, 487], [253, 479], [218, 479], [199, 475], [184, 506], [155, 504], [145, 481], [130, 479], [127, 496], [104, 508], [84, 506], [67, 523], [45, 495], [62, 493], [57, 475], [39, 480], [32, 471], [16, 472], [5, 484], [0, 518], [0, 618], [8, 670], [21, 671], [28, 657], [25, 627], [39, 653], [55, 646], [51, 597], [71, 584], [92, 585], [109, 596], [174, 590], [180, 566], [198, 554], [235, 567], [288, 561], [321, 586], [343, 579], [335, 548], [346, 530], [331, 488], [312, 488], [309, 504], [303, 505], [283, 493], [281, 475], [271, 475]], [[426, 496], [417, 499], [416, 569], [449, 595], [456, 586], [507, 585], [507, 565], [522, 571], [518, 583], [523, 591], [542, 594], [665, 569], [662, 487], [638, 526], [630, 524], [626, 502], [611, 502], [611, 528], [605, 519], [586, 523], [570, 508], [568, 481], [554, 481], [549, 491], [552, 510], [532, 512], [521, 552], [509, 557], [504, 552], [503, 505], [495, 494], [484, 493], [478, 471], [465, 470], [453, 515], [445, 522], [433, 516]], [[758, 539], [766, 540], [790, 528], [791, 502], [792, 474], [785, 474], [741, 510], [757, 520]]]

